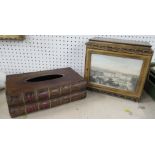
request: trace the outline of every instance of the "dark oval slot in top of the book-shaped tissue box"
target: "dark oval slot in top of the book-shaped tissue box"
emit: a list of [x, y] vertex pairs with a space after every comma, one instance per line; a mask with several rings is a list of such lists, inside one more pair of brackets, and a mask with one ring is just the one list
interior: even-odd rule
[[44, 75], [44, 76], [38, 76], [32, 79], [28, 79], [28, 82], [41, 82], [41, 81], [47, 81], [47, 80], [54, 80], [63, 77], [63, 75], [54, 74], [54, 75]]

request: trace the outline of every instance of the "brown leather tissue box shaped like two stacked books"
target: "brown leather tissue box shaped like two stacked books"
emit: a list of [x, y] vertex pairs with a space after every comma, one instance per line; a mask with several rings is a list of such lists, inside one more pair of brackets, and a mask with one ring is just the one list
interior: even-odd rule
[[11, 117], [86, 97], [87, 82], [71, 68], [8, 75], [6, 97]]

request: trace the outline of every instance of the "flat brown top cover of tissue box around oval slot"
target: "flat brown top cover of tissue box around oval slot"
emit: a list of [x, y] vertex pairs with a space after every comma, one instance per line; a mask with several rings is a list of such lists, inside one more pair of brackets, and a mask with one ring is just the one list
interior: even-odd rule
[[[46, 75], [63, 75], [60, 78], [28, 82], [27, 80]], [[62, 85], [77, 83], [83, 81], [83, 78], [71, 68], [55, 69], [48, 71], [31, 72], [24, 74], [8, 75], [6, 78], [6, 92], [9, 95], [19, 95], [21, 92], [30, 92], [35, 89], [58, 88]]]

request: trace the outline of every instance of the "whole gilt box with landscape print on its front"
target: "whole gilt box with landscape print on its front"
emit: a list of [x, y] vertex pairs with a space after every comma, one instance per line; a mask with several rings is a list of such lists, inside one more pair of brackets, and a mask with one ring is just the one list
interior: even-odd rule
[[[131, 49], [137, 44], [109, 42], [95, 40], [86, 44], [85, 79], [88, 88], [138, 101], [152, 58], [150, 46], [148, 52], [140, 53], [139, 44], [140, 49], [136, 52]], [[146, 50], [145, 46], [143, 48]]]

